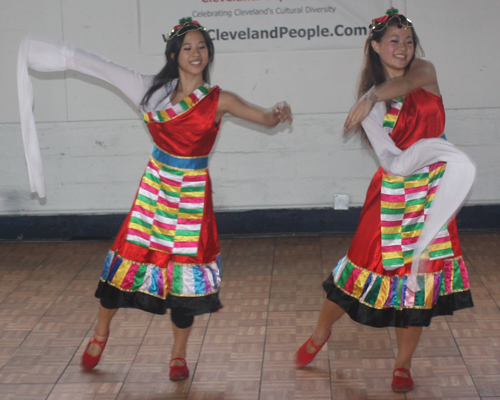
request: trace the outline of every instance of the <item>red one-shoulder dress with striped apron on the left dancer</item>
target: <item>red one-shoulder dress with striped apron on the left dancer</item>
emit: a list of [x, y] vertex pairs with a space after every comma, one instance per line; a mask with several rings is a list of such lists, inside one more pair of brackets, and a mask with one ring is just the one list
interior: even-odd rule
[[219, 94], [219, 87], [200, 86], [172, 108], [144, 114], [153, 152], [105, 261], [96, 291], [104, 307], [185, 315], [222, 307], [207, 168]]

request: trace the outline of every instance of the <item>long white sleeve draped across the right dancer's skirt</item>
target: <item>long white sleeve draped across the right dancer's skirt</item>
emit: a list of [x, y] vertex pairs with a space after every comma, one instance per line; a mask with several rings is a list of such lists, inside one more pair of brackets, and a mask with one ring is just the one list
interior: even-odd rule
[[377, 103], [361, 123], [385, 171], [398, 176], [409, 176], [425, 166], [437, 162], [446, 163], [446, 171], [413, 252], [408, 287], [416, 292], [419, 289], [416, 276], [420, 256], [441, 228], [462, 207], [474, 183], [476, 167], [465, 153], [440, 138], [420, 139], [406, 150], [399, 149], [382, 127], [385, 112], [385, 104]]

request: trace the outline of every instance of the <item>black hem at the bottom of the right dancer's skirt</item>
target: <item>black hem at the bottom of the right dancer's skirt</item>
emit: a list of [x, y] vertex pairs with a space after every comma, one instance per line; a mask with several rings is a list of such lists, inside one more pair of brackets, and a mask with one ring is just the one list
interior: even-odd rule
[[431, 309], [376, 309], [360, 303], [357, 298], [338, 288], [332, 274], [323, 282], [323, 289], [327, 299], [340, 306], [352, 320], [374, 328], [429, 326], [433, 317], [453, 315], [455, 311], [474, 307], [470, 290], [439, 296]]

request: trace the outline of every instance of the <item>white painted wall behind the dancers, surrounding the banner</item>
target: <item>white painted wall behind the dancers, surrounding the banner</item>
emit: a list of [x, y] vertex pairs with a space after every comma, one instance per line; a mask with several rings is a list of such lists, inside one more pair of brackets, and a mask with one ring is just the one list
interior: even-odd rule
[[[138, 114], [102, 82], [33, 72], [47, 184], [41, 204], [29, 191], [15, 67], [19, 42], [32, 32], [156, 73], [162, 57], [138, 55], [136, 1], [0, 1], [0, 215], [128, 211], [152, 146]], [[468, 204], [499, 204], [500, 59], [492, 43], [500, 3], [393, 4], [413, 20], [436, 65], [448, 139], [478, 165]], [[350, 195], [351, 206], [363, 203], [377, 163], [341, 134], [361, 63], [361, 49], [216, 56], [213, 83], [262, 106], [286, 100], [295, 113], [292, 128], [269, 131], [234, 118], [222, 124], [210, 163], [217, 210], [330, 207], [336, 193]]]

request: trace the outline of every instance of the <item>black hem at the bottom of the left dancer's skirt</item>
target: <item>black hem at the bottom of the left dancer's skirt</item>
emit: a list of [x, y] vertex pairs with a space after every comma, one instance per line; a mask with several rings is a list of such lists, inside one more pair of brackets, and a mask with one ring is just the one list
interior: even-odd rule
[[95, 297], [100, 299], [101, 305], [107, 309], [136, 308], [158, 315], [165, 315], [169, 308], [175, 308], [185, 316], [195, 316], [213, 313], [223, 307], [219, 293], [199, 297], [169, 294], [166, 299], [160, 299], [142, 292], [123, 292], [103, 281], [99, 281]]

